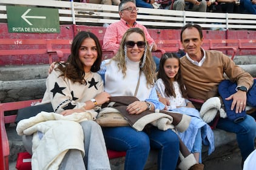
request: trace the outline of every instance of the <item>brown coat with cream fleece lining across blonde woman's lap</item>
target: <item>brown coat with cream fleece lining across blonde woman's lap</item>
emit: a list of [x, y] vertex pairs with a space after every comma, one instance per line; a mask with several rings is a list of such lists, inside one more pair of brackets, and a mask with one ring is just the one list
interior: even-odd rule
[[[179, 131], [185, 131], [189, 127], [191, 117], [186, 114], [163, 110], [158, 110], [157, 112], [143, 111], [141, 114], [127, 113], [127, 105], [135, 101], [138, 101], [138, 99], [133, 96], [110, 97], [109, 110], [112, 112], [116, 112], [113, 109], [118, 110], [137, 131], [142, 131], [148, 124], [157, 126], [161, 130], [176, 128]], [[102, 112], [107, 113], [107, 109], [103, 108]], [[99, 114], [103, 114], [102, 112], [100, 111]], [[187, 170], [197, 163], [194, 155], [190, 153], [182, 140], [180, 140], [180, 160], [181, 162], [178, 167], [181, 170]]]

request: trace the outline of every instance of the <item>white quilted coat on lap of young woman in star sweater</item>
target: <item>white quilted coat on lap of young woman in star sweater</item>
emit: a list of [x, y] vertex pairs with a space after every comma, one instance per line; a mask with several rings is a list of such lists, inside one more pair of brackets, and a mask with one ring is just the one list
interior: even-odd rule
[[93, 111], [62, 116], [42, 111], [34, 117], [21, 120], [16, 131], [19, 136], [33, 134], [32, 169], [58, 169], [69, 149], [78, 149], [84, 155], [84, 133], [79, 122], [93, 119]]

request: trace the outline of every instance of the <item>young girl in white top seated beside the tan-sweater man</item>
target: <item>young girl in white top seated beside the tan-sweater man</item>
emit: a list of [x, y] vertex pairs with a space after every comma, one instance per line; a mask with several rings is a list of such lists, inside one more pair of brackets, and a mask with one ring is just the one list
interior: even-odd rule
[[[186, 88], [181, 77], [180, 59], [175, 53], [165, 53], [161, 57], [160, 67], [157, 75], [156, 89], [161, 97], [167, 100], [166, 110], [178, 111], [192, 116], [189, 129], [185, 132], [178, 132], [190, 152], [195, 156], [198, 168], [203, 169], [201, 163], [202, 134], [201, 127], [205, 126], [210, 145], [214, 143], [213, 132], [207, 128], [206, 123], [200, 119], [199, 112], [194, 105], [187, 99]], [[214, 145], [212, 145], [214, 147]], [[211, 147], [210, 147], [211, 148]]]

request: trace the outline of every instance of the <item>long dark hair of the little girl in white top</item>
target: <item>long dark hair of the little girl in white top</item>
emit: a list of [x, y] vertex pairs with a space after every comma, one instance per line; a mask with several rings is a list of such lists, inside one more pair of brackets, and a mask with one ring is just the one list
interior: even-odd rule
[[[173, 58], [178, 60], [179, 67], [180, 67], [180, 58], [177, 56], [176, 53], [164, 53], [163, 56], [160, 59], [159, 71], [158, 71], [158, 74], [157, 74], [157, 78], [162, 79], [163, 82], [164, 82], [164, 86], [166, 87], [164, 93], [166, 93], [166, 95], [169, 96], [169, 97], [170, 96], [176, 97], [176, 94], [175, 94], [175, 91], [174, 91], [172, 81], [170, 80], [169, 77], [166, 76], [166, 73], [164, 72], [164, 63], [166, 62], [167, 59], [173, 59]], [[184, 82], [183, 82], [183, 79], [181, 77], [181, 70], [180, 69], [178, 70], [178, 73], [176, 74], [174, 79], [180, 85], [181, 95], [184, 98], [187, 98], [187, 91], [184, 87]]]

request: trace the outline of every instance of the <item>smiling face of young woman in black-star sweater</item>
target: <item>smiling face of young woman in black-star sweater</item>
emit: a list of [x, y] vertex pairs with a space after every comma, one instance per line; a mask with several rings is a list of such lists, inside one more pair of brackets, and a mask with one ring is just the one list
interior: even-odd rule
[[92, 65], [98, 57], [97, 46], [92, 38], [84, 39], [79, 47], [79, 60], [84, 66], [84, 72], [90, 72]]

